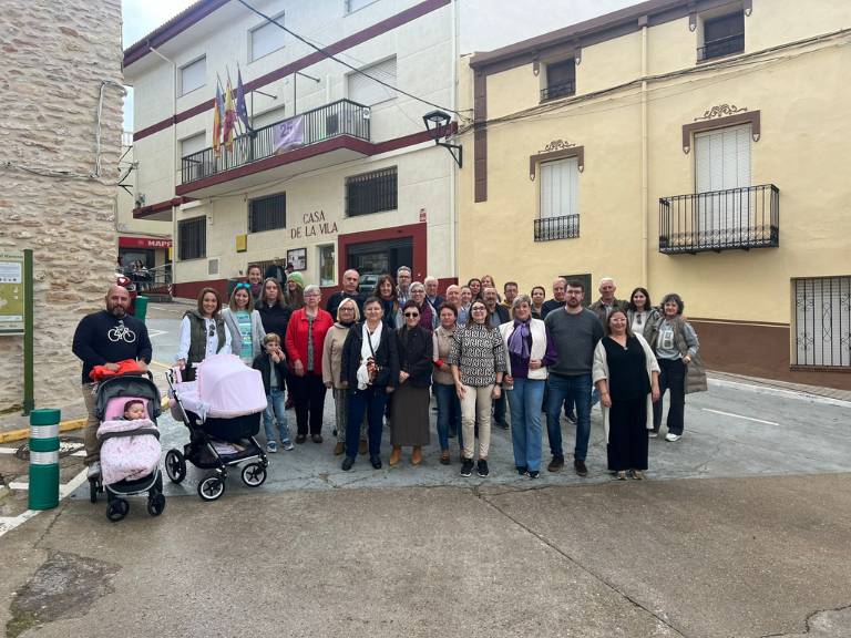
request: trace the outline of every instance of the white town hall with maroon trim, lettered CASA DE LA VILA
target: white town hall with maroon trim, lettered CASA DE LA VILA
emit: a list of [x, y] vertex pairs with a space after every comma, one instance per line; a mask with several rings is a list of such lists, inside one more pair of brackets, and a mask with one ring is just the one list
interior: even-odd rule
[[[144, 197], [134, 216], [172, 222], [175, 295], [224, 290], [273, 260], [328, 290], [348, 267], [451, 280], [455, 165], [422, 116], [454, 109], [453, 4], [253, 6], [291, 33], [204, 0], [124, 52]], [[216, 88], [238, 73], [250, 130], [217, 154]]]

